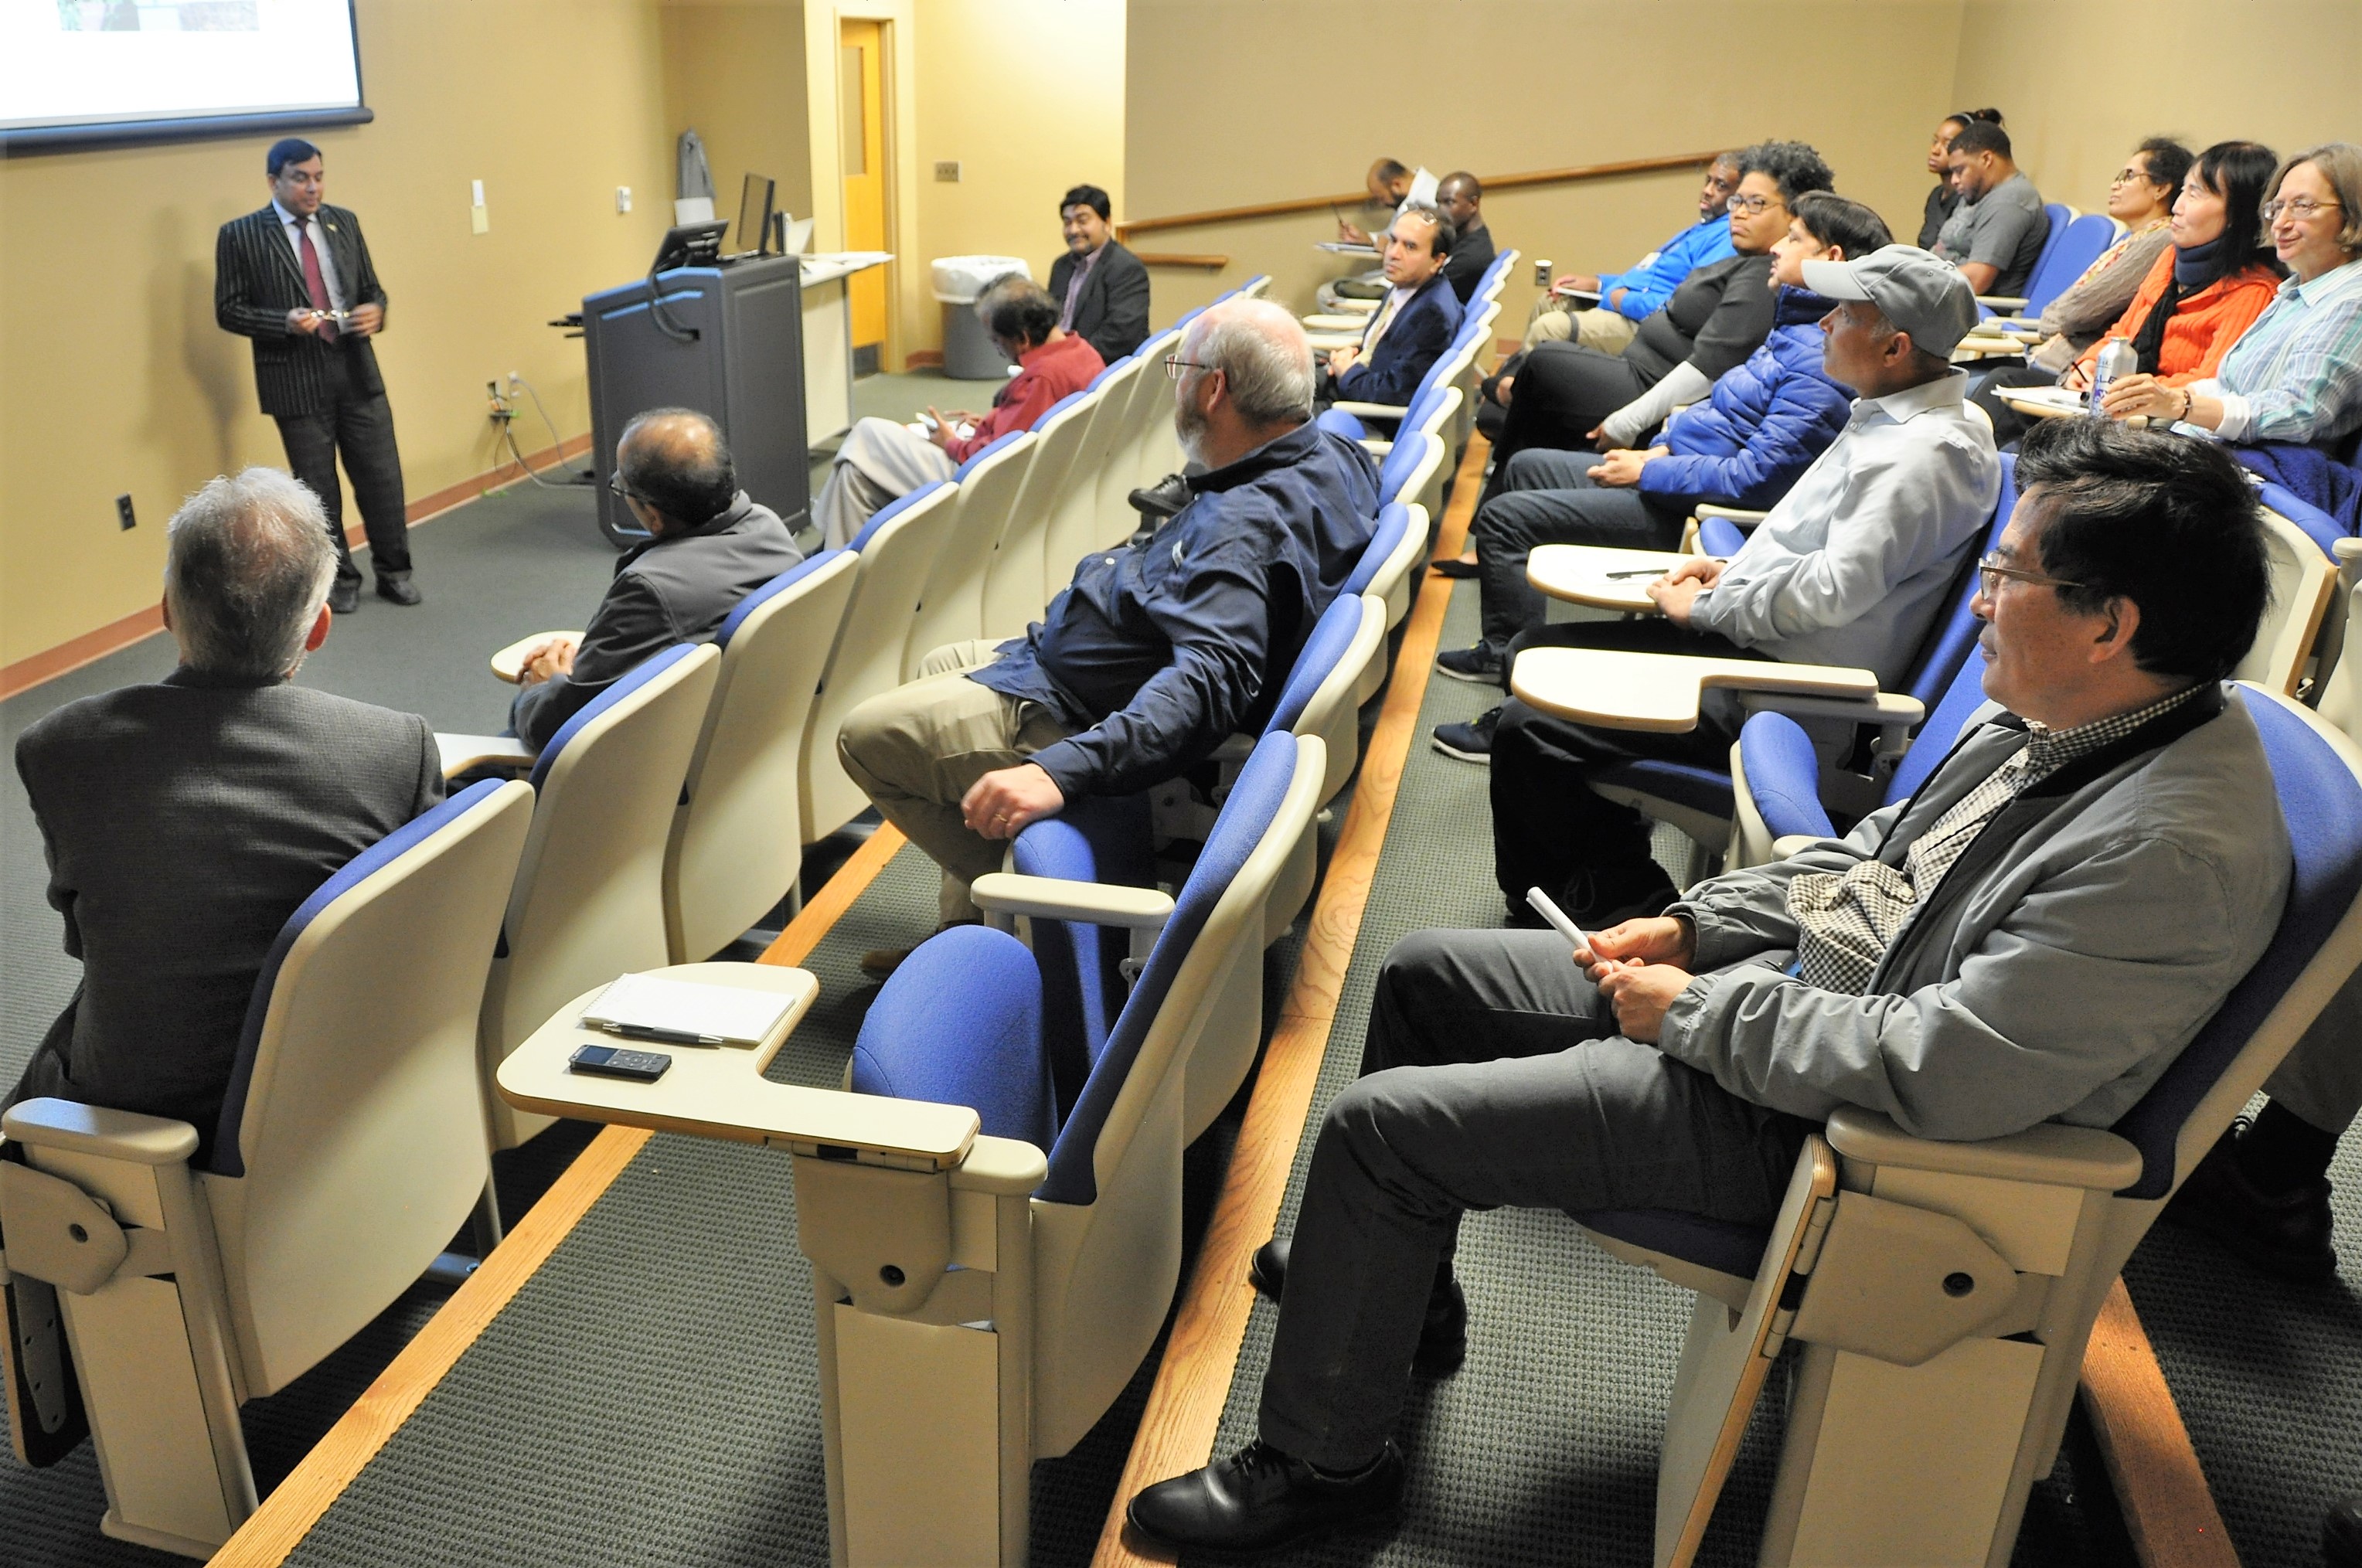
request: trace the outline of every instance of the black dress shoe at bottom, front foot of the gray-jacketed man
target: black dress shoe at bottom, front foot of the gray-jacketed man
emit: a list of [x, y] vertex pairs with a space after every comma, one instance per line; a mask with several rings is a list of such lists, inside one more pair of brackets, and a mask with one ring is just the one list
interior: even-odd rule
[[1167, 1547], [1271, 1551], [1391, 1514], [1401, 1500], [1403, 1455], [1394, 1443], [1351, 1476], [1330, 1476], [1268, 1443], [1247, 1443], [1228, 1459], [1143, 1488], [1124, 1518]]

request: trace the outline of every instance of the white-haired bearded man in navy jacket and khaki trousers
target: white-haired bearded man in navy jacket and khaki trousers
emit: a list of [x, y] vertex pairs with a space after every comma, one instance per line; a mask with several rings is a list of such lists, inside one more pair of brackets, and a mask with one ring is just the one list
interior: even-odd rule
[[[968, 883], [1027, 824], [1164, 784], [1257, 732], [1370, 543], [1377, 468], [1311, 423], [1313, 354], [1292, 314], [1214, 305], [1164, 371], [1190, 460], [1172, 522], [1084, 555], [1023, 638], [933, 649], [836, 737], [862, 793], [942, 867], [945, 926], [978, 919]], [[876, 949], [862, 968], [902, 956]]]

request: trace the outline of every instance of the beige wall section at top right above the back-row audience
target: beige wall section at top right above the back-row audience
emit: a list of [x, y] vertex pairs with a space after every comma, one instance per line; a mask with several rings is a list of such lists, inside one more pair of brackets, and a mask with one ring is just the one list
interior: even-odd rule
[[[2159, 76], [2159, 90], [2126, 90], [2161, 47], [2204, 59]], [[2095, 213], [2142, 137], [2194, 149], [2246, 137], [2284, 156], [2362, 137], [2355, 80], [2353, 0], [1968, 0], [1951, 106], [1996, 104], [2043, 196]]]

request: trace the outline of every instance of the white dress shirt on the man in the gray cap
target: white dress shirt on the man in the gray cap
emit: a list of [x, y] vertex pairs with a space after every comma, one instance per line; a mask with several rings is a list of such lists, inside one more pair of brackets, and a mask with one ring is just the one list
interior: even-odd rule
[[1871, 668], [1894, 690], [2001, 496], [1994, 432], [1965, 390], [1953, 371], [1854, 399], [1689, 623], [1790, 664]]

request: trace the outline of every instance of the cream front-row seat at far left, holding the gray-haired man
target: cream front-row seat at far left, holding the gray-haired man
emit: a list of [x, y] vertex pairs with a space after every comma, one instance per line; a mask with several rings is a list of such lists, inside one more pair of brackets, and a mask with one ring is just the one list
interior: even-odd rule
[[529, 786], [477, 784], [305, 900], [210, 1169], [187, 1122], [26, 1100], [0, 1124], [26, 1155], [0, 1164], [14, 1287], [57, 1289], [109, 1535], [210, 1556], [255, 1509], [239, 1405], [366, 1327], [465, 1223], [491, 1169], [477, 1011], [531, 817]]

